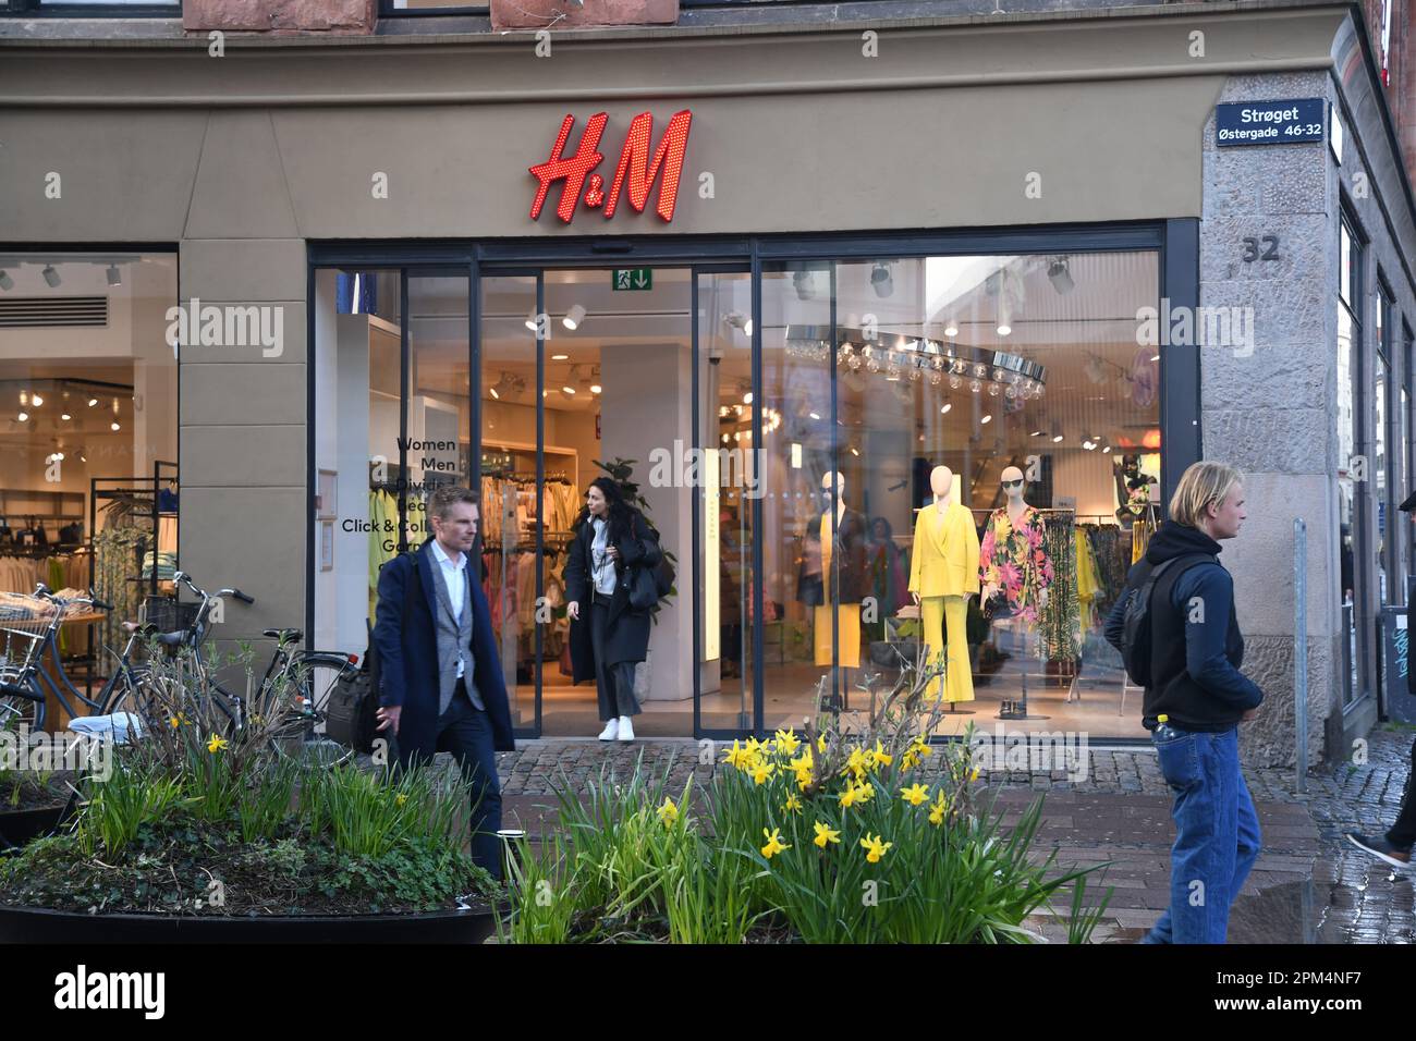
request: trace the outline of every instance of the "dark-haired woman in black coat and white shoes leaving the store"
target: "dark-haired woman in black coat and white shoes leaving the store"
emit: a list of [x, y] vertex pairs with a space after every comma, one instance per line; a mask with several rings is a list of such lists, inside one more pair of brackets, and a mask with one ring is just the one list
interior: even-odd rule
[[619, 484], [609, 477], [590, 482], [564, 579], [571, 681], [595, 678], [605, 719], [600, 741], [634, 739], [634, 666], [649, 652], [650, 612], [630, 608], [630, 568], [651, 568], [661, 557], [654, 530], [624, 501]]

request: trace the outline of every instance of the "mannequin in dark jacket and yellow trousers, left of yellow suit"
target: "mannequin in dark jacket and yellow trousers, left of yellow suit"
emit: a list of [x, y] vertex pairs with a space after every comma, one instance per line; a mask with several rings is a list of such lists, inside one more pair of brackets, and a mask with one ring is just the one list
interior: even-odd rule
[[834, 605], [835, 630], [841, 640], [835, 661], [841, 669], [858, 669], [861, 602], [869, 592], [865, 518], [845, 504], [845, 483], [840, 473], [823, 474], [818, 494], [821, 511], [813, 513], [806, 525], [797, 599], [814, 609], [816, 664], [831, 664]]

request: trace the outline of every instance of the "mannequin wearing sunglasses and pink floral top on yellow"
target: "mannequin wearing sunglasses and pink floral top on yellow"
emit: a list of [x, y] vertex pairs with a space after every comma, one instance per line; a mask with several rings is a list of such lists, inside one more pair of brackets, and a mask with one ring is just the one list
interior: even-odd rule
[[1044, 548], [1042, 514], [1022, 501], [1022, 470], [1003, 472], [1007, 501], [988, 516], [978, 554], [983, 601], [994, 618], [1035, 622], [1048, 603], [1052, 561]]

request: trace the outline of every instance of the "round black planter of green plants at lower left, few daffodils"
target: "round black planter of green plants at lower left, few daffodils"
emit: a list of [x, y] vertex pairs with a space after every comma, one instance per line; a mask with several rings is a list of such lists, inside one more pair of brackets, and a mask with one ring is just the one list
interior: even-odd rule
[[480, 942], [496, 885], [456, 776], [282, 755], [300, 687], [225, 722], [184, 659], [154, 661], [144, 736], [78, 779], [57, 834], [0, 857], [0, 942]]

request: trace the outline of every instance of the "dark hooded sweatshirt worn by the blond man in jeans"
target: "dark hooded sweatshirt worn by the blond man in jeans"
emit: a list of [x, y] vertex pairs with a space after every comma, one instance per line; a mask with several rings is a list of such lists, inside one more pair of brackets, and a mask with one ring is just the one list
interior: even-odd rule
[[[1175, 557], [1219, 552], [1219, 542], [1199, 528], [1170, 520], [1161, 524], [1146, 557], [1131, 565], [1126, 592], [1106, 619], [1107, 642], [1120, 649], [1126, 602], [1155, 567]], [[1239, 671], [1243, 636], [1233, 579], [1218, 561], [1175, 567], [1184, 571], [1167, 571], [1155, 584], [1151, 603], [1151, 681], [1146, 686], [1143, 722], [1154, 729], [1157, 717], [1165, 715], [1180, 729], [1228, 729], [1263, 701], [1257, 684]]]

